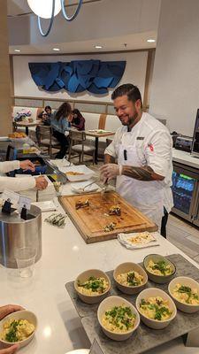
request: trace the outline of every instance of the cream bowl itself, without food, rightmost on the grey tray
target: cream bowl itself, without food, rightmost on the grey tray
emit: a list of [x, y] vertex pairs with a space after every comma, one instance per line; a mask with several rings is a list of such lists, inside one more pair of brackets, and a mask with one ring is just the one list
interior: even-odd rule
[[199, 294], [199, 283], [192, 278], [180, 276], [174, 278], [168, 286], [169, 294], [172, 296], [174, 303], [176, 304], [177, 308], [186, 313], [194, 313], [199, 311], [199, 304], [185, 304], [180, 301], [180, 299], [176, 298], [173, 295], [173, 289], [176, 287], [177, 284], [183, 285], [184, 287], [188, 287], [191, 289], [196, 289], [197, 293]]

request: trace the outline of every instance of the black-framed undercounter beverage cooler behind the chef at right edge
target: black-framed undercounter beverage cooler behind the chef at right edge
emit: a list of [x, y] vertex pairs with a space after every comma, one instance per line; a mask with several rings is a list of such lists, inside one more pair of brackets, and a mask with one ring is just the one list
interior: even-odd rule
[[173, 163], [172, 212], [199, 226], [199, 170]]

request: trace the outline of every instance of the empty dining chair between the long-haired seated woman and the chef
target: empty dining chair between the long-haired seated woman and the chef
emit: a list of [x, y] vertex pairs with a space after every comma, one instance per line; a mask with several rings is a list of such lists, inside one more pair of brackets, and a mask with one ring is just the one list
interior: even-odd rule
[[[79, 162], [84, 161], [84, 155], [92, 155], [93, 165], [95, 164], [95, 146], [87, 144], [86, 133], [84, 131], [70, 130], [69, 132], [69, 153], [68, 161], [72, 158], [79, 157]], [[72, 152], [76, 152], [76, 155], [72, 155]]]

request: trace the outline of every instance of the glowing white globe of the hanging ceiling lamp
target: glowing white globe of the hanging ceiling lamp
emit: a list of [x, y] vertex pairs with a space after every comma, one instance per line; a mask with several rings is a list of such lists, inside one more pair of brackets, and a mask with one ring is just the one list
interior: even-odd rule
[[[27, 0], [27, 4], [31, 10], [42, 19], [50, 19], [52, 14], [53, 0]], [[61, 11], [61, 0], [55, 1], [54, 16]]]

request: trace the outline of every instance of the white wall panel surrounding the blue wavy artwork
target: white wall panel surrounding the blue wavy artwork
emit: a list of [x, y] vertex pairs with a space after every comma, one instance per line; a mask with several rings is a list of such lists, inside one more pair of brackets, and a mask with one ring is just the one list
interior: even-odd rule
[[89, 101], [111, 101], [111, 92], [108, 95], [95, 96], [87, 91], [81, 94], [69, 95], [65, 90], [50, 93], [42, 89], [38, 89], [35, 85], [31, 73], [28, 68], [30, 62], [56, 62], [56, 61], [71, 61], [78, 59], [100, 59], [100, 60], [126, 60], [126, 70], [119, 84], [131, 82], [139, 87], [142, 96], [144, 93], [144, 84], [147, 66], [147, 51], [131, 52], [131, 53], [115, 53], [115, 54], [94, 54], [92, 56], [54, 56], [54, 57], [13, 57], [13, 73], [14, 73], [14, 95], [15, 96], [33, 96], [33, 97], [50, 97], [61, 99], [81, 99]]

